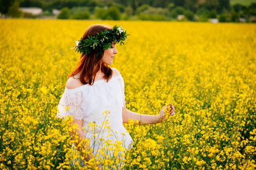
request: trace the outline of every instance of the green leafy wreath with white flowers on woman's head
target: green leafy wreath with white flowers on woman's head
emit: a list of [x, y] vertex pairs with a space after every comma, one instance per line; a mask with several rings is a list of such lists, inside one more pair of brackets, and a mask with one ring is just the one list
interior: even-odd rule
[[[88, 39], [76, 41], [77, 52], [80, 52], [82, 55], [84, 54], [92, 54], [96, 51], [97, 55], [102, 54], [102, 50], [106, 50], [108, 48], [112, 48], [113, 42], [117, 44], [124, 44], [123, 41], [127, 39], [126, 31], [122, 28], [122, 26], [117, 27], [114, 25], [113, 29], [106, 29], [100, 33], [97, 33], [96, 36], [88, 36]], [[72, 48], [73, 49], [73, 48]]]

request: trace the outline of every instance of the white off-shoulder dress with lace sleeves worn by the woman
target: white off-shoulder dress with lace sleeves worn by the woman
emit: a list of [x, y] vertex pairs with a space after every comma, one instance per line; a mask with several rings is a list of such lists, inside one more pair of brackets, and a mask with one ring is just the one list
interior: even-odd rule
[[[65, 88], [61, 96], [57, 117], [71, 115], [74, 119], [82, 120], [85, 137], [90, 139], [90, 147], [94, 148], [94, 155], [99, 154], [96, 150], [102, 146], [98, 139], [121, 141], [125, 149], [130, 149], [133, 145], [133, 139], [122, 124], [122, 107], [125, 105], [124, 86], [122, 75], [117, 75], [108, 83], [105, 79], [101, 79], [95, 81], [92, 86], [85, 84], [74, 89]], [[68, 111], [67, 107], [70, 107]], [[104, 119], [109, 123], [102, 125]], [[94, 129], [92, 122], [95, 123]]]

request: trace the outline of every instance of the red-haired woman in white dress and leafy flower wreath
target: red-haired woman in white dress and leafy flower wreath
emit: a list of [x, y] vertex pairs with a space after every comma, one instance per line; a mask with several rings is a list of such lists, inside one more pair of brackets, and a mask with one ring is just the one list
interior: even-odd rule
[[[133, 139], [122, 123], [128, 123], [130, 119], [141, 125], [164, 121], [167, 107], [163, 107], [157, 116], [126, 109], [122, 75], [117, 69], [108, 66], [113, 63], [117, 54], [115, 44], [121, 42], [122, 45], [126, 37], [126, 31], [122, 27], [94, 24], [77, 41], [76, 50], [81, 53], [81, 58], [69, 75], [58, 106], [58, 116], [73, 116], [72, 124], [78, 125], [75, 130], [79, 136], [76, 143], [76, 146], [80, 144], [78, 150], [81, 147], [86, 150], [92, 148], [93, 154], [97, 155], [103, 146], [101, 142], [104, 141], [121, 141], [123, 147], [129, 149], [133, 145]], [[172, 104], [169, 109], [170, 114], [174, 115]], [[104, 120], [101, 118], [104, 117], [102, 113], [108, 114]], [[71, 135], [73, 133], [71, 131]], [[88, 139], [88, 145], [81, 142], [83, 139]], [[90, 155], [85, 157], [85, 160], [91, 158]]]

